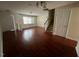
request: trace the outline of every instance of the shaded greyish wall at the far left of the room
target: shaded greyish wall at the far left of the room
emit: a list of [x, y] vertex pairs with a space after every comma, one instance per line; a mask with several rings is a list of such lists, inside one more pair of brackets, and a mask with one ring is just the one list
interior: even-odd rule
[[0, 22], [2, 25], [2, 31], [8, 31], [14, 29], [13, 18], [10, 11], [0, 12]]

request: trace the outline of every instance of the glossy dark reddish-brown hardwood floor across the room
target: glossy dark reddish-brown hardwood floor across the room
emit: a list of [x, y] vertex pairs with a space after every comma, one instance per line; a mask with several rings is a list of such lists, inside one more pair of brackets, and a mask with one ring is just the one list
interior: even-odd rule
[[3, 33], [7, 57], [76, 57], [76, 41], [45, 32], [40, 27]]

